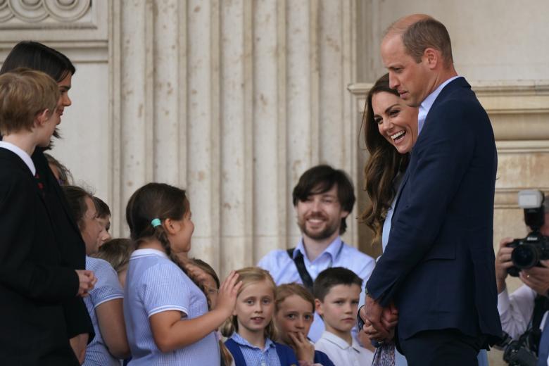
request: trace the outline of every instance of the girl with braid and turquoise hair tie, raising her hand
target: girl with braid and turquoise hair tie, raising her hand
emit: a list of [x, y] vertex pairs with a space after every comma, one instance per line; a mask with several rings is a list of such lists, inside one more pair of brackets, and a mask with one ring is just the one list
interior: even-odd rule
[[128, 267], [124, 313], [130, 366], [219, 365], [215, 330], [234, 310], [241, 283], [231, 272], [215, 308], [183, 270], [194, 224], [185, 191], [149, 183], [130, 198], [126, 220], [136, 250]]

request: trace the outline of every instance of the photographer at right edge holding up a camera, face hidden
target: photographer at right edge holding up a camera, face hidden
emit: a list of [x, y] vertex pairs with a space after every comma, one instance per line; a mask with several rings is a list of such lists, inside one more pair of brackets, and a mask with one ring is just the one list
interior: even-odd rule
[[[549, 201], [545, 200], [542, 207], [545, 211], [545, 220], [539, 227], [539, 234], [549, 236]], [[524, 339], [526, 348], [538, 353], [539, 360], [534, 365], [545, 366], [548, 365], [549, 329], [545, 330], [545, 334], [541, 332], [549, 326], [549, 260], [541, 259], [538, 266], [520, 270], [519, 278], [524, 284], [512, 294], [508, 294], [505, 278], [510, 268], [514, 267], [512, 252], [515, 248], [509, 245], [512, 242], [511, 238], [502, 239], [496, 255], [496, 283], [501, 325], [503, 332], [510, 338]], [[537, 329], [541, 329], [541, 332]], [[544, 347], [542, 343], [547, 344]], [[506, 360], [505, 355], [504, 360]], [[509, 362], [509, 360], [506, 361]], [[516, 363], [516, 365], [523, 364]]]

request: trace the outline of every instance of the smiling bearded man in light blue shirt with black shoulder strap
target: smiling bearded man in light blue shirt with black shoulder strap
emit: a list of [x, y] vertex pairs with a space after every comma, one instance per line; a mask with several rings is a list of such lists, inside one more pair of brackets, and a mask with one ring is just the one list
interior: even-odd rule
[[[288, 250], [271, 251], [258, 266], [270, 272], [274, 282], [297, 282], [309, 289], [317, 275], [329, 267], [345, 267], [366, 282], [374, 269], [374, 259], [343, 243], [346, 218], [353, 210], [353, 184], [343, 170], [317, 165], [301, 175], [292, 194], [301, 239]], [[364, 294], [361, 294], [364, 298]], [[324, 322], [315, 313], [309, 339], [320, 339]]]

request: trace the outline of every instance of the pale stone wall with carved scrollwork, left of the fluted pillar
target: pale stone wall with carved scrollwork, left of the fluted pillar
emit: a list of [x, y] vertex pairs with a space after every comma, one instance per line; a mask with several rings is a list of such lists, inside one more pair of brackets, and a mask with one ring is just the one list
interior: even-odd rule
[[[111, 4], [91, 0], [0, 0], [0, 62], [22, 40], [43, 42], [75, 64], [61, 123], [63, 139], [53, 155], [87, 184], [111, 199], [112, 119], [109, 111], [109, 23]], [[118, 220], [118, 219], [117, 219]]]

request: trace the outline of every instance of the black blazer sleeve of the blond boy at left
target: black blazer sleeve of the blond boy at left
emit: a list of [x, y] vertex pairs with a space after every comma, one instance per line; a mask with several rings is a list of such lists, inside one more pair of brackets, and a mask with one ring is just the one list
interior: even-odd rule
[[33, 212], [35, 189], [23, 175], [1, 176], [0, 282], [27, 298], [61, 303], [76, 296], [78, 276], [70, 268], [36, 263], [32, 258], [33, 246], [41, 244], [33, 228], [37, 220], [48, 220]]

